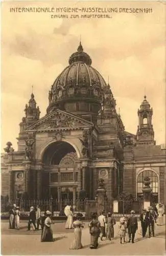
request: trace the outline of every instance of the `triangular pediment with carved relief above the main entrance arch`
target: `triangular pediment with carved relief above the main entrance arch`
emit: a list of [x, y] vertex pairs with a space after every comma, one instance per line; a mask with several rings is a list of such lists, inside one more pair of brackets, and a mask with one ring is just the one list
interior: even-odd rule
[[61, 130], [61, 129], [79, 129], [83, 127], [91, 127], [93, 124], [76, 115], [70, 114], [62, 110], [55, 110], [53, 113], [47, 114], [36, 123], [27, 127], [27, 131], [37, 130]]

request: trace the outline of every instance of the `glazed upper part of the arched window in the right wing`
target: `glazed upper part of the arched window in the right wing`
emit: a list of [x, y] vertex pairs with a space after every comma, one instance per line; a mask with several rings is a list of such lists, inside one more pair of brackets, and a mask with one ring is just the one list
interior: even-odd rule
[[144, 170], [137, 177], [137, 194], [143, 193], [144, 178], [150, 178], [150, 187], [152, 188], [152, 193], [158, 193], [158, 177], [152, 170]]

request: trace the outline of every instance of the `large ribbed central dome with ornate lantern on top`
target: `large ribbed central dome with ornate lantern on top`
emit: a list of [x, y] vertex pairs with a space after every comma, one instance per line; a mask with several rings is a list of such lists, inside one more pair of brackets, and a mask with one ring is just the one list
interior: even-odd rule
[[80, 42], [77, 52], [69, 57], [69, 66], [57, 77], [49, 92], [48, 112], [58, 107], [81, 116], [98, 115], [106, 82], [91, 67], [91, 62]]

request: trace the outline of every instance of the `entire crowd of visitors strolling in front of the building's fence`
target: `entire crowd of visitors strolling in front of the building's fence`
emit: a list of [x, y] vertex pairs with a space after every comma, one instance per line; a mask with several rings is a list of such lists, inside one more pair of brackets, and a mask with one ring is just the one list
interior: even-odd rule
[[[161, 208], [161, 205], [160, 205]], [[159, 208], [159, 209], [160, 209]], [[139, 216], [139, 220], [141, 223], [141, 233], [143, 238], [146, 236], [146, 232], [149, 228], [149, 238], [153, 235], [155, 236], [155, 223], [157, 225], [163, 225], [163, 211], [162, 215], [161, 211], [155, 207], [154, 209], [150, 206], [147, 209], [143, 209], [143, 213]], [[33, 206], [30, 208], [29, 212], [29, 221], [28, 221], [28, 230], [31, 227], [34, 230], [39, 229], [41, 226], [41, 242], [53, 242], [53, 231], [51, 228], [51, 215], [52, 212], [46, 210], [44, 215], [41, 214], [40, 207], [37, 206], [36, 210]], [[13, 204], [12, 209], [10, 210], [9, 217], [9, 228], [19, 229], [19, 217], [20, 211], [19, 207], [16, 204]], [[70, 249], [81, 249], [82, 242], [82, 228], [85, 227], [81, 218], [83, 215], [79, 212], [76, 216], [76, 220], [73, 222], [73, 211], [72, 207], [69, 207], [69, 211], [67, 214], [67, 221], [65, 224], [66, 229], [74, 229], [74, 241], [70, 246]], [[37, 224], [37, 227], [36, 227]], [[102, 241], [105, 237], [108, 240], [114, 238], [114, 225], [116, 224], [115, 219], [112, 217], [111, 212], [108, 212], [107, 215], [104, 215], [104, 211], [100, 211], [100, 215], [98, 216], [97, 212], [93, 212], [91, 215], [91, 220], [88, 223], [89, 233], [90, 233], [90, 248], [97, 249], [98, 248], [98, 239]], [[120, 237], [120, 243], [132, 242], [134, 243], [135, 233], [138, 229], [137, 217], [135, 216], [135, 212], [131, 210], [129, 218], [125, 218], [124, 216], [120, 218], [119, 222], [119, 232], [118, 235]], [[128, 237], [128, 241], [127, 241]]]

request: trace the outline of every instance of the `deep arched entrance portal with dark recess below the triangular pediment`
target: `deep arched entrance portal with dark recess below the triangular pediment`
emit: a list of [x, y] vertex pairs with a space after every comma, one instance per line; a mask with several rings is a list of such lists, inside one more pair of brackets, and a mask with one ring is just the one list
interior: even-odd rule
[[75, 204], [78, 197], [78, 168], [75, 148], [67, 142], [50, 144], [44, 151], [42, 197]]

